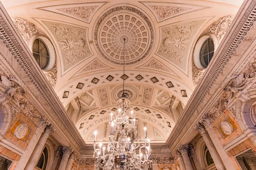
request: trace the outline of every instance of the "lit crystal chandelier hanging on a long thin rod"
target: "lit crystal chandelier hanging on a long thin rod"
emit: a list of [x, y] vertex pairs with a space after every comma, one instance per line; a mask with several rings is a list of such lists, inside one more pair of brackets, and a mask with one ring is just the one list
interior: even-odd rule
[[[124, 37], [122, 41], [124, 53], [125, 41]], [[140, 142], [136, 119], [130, 109], [131, 101], [127, 96], [128, 94], [124, 93], [123, 79], [123, 93], [117, 101], [118, 111], [110, 115], [111, 133], [106, 147], [102, 143], [96, 142], [97, 131], [94, 132], [94, 157], [97, 154], [98, 170], [148, 170], [151, 168], [152, 160], [149, 159], [150, 140], [147, 138], [147, 128], [144, 126], [145, 140]]]

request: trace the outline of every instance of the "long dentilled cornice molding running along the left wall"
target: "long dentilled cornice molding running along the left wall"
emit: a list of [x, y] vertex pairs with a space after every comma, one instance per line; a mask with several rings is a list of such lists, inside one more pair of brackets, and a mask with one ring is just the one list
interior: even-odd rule
[[[0, 3], [0, 39], [9, 51], [11, 51], [13, 59], [16, 60], [24, 70], [25, 75], [22, 77], [23, 80], [26, 80], [26, 84], [30, 86], [31, 89], [38, 90], [36, 92], [38, 97], [34, 99], [37, 100], [35, 102], [38, 104], [41, 103], [39, 102], [39, 98], [41, 98], [41, 100], [47, 104], [47, 107], [43, 107], [39, 104], [41, 108], [45, 109], [43, 111], [44, 115], [51, 121], [54, 127], [56, 127], [57, 131], [62, 129], [62, 132], [65, 132], [61, 133], [64, 135], [63, 137], [66, 138], [67, 141], [71, 141], [73, 147], [79, 151], [84, 147], [84, 141], [71, 119], [68, 118], [63, 105], [59, 101], [50, 83], [39, 67], [37, 67], [37, 63], [33, 60], [31, 51], [29, 51], [25, 41], [22, 39], [15, 25], [10, 21], [11, 18]], [[51, 113], [51, 116], [49, 113]], [[57, 119], [53, 120], [52, 117]]]

